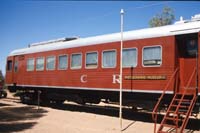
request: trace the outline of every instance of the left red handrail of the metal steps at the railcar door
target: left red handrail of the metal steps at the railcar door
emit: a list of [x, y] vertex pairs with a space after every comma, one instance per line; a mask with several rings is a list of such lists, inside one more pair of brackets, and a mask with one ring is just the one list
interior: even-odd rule
[[155, 107], [154, 107], [154, 109], [153, 109], [153, 112], [152, 112], [152, 119], [153, 119], [153, 121], [155, 122], [155, 123], [154, 123], [154, 133], [156, 132], [157, 115], [158, 115], [158, 114], [157, 114], [157, 110], [158, 110], [159, 104], [161, 103], [161, 100], [162, 100], [162, 98], [164, 97], [166, 90], [168, 89], [169, 85], [170, 85], [171, 82], [172, 82], [172, 79], [174, 79], [174, 77], [175, 77], [175, 75], [177, 74], [178, 70], [179, 70], [179, 68], [176, 68], [176, 70], [175, 70], [174, 73], [172, 74], [171, 78], [169, 79], [167, 85], [166, 85], [165, 88], [164, 88], [164, 91], [163, 91], [162, 95], [161, 95], [160, 98], [158, 99], [158, 102], [157, 102], [157, 104], [155, 105]]

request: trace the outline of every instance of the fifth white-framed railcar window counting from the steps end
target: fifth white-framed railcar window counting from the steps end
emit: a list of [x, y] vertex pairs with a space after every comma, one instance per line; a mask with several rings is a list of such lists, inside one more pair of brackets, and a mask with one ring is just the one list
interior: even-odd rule
[[71, 68], [80, 69], [82, 65], [82, 54], [72, 54], [71, 57]]

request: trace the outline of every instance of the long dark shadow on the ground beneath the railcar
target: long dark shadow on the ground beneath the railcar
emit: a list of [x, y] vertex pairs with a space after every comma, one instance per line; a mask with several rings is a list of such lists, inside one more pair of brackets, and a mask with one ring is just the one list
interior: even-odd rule
[[[77, 105], [77, 104], [63, 104], [63, 105], [51, 105], [54, 109], [60, 110], [68, 110], [73, 112], [86, 112], [86, 113], [93, 113], [98, 115], [107, 115], [112, 117], [119, 117], [119, 108], [117, 107], [102, 107], [98, 105]], [[161, 122], [163, 115], [158, 115], [158, 123]], [[153, 120], [152, 115], [149, 112], [144, 111], [133, 111], [131, 109], [123, 109], [123, 119], [132, 120], [132, 121], [142, 121], [152, 123]], [[188, 133], [192, 133], [193, 131], [200, 131], [200, 119], [190, 119], [187, 125], [187, 129], [190, 129]]]

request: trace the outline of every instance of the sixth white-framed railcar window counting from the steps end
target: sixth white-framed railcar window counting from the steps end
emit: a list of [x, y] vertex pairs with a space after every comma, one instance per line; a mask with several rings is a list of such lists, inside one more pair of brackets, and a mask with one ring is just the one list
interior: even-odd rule
[[65, 70], [68, 66], [68, 56], [67, 55], [61, 55], [58, 57], [58, 69], [59, 70]]

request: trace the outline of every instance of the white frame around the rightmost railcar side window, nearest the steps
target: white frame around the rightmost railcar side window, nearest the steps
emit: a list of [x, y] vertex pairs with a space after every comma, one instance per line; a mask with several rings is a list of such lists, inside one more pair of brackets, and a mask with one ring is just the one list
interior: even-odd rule
[[[145, 48], [154, 48], [154, 47], [160, 47], [160, 49], [161, 49], [161, 63], [160, 63], [160, 65], [148, 65], [148, 66], [145, 66], [144, 65], [144, 63], [143, 63], [143, 56], [144, 56], [144, 49]], [[163, 62], [163, 58], [162, 58], [162, 55], [163, 55], [163, 50], [162, 50], [163, 48], [162, 48], [162, 45], [151, 45], [151, 46], [144, 46], [143, 48], [142, 48], [142, 66], [143, 67], [161, 67], [162, 66], [162, 62]]]

